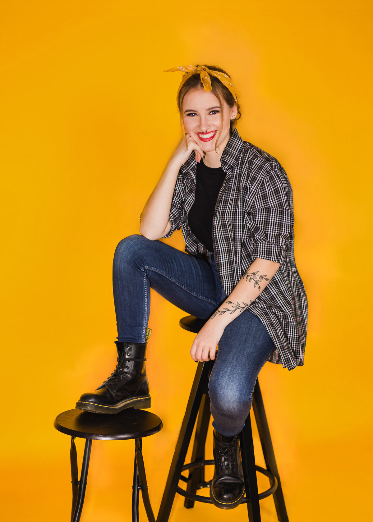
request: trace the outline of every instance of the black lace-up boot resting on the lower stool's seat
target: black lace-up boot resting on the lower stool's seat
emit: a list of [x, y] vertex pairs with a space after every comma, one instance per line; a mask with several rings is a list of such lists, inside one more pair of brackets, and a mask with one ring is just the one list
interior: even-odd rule
[[145, 372], [147, 342], [114, 341], [118, 351], [114, 372], [96, 392], [81, 395], [79, 410], [118, 413], [125, 408], [150, 408], [149, 382]]

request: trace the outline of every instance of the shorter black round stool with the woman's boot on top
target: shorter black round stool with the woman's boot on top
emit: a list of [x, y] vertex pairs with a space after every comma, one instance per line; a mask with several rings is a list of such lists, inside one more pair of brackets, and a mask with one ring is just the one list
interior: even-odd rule
[[[151, 509], [146, 482], [144, 459], [141, 451], [142, 437], [154, 435], [162, 429], [162, 421], [154, 413], [128, 408], [120, 413], [90, 413], [81, 410], [68, 410], [60, 413], [55, 421], [56, 430], [71, 435], [71, 478], [73, 484], [73, 505], [71, 522], [79, 522], [86, 492], [89, 457], [92, 439], [101, 441], [122, 441], [135, 439], [135, 464], [133, 470], [132, 522], [138, 522], [139, 490], [142, 490], [143, 502], [149, 522], [155, 522]], [[78, 461], [75, 437], [85, 438], [83, 464], [78, 480]]]

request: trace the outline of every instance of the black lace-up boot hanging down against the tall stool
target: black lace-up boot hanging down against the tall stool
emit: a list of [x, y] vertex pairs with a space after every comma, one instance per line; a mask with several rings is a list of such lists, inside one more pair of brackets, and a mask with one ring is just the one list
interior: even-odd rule
[[232, 509], [245, 492], [238, 435], [226, 437], [214, 430], [214, 478], [210, 487], [212, 503], [220, 509]]

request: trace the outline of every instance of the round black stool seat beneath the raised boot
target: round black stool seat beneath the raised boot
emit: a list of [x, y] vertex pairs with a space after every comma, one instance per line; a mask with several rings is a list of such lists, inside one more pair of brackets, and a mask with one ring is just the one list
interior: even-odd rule
[[57, 415], [54, 428], [73, 437], [123, 441], [158, 433], [162, 429], [162, 421], [150, 411], [134, 408], [127, 408], [114, 415], [74, 409]]

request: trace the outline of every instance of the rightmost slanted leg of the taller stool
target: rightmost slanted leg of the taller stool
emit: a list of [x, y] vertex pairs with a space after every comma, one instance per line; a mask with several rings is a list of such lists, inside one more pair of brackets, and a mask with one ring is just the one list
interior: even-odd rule
[[254, 392], [253, 392], [253, 402], [252, 407], [254, 411], [255, 421], [257, 422], [260, 443], [262, 445], [263, 456], [265, 461], [265, 466], [268, 471], [270, 471], [274, 477], [277, 479], [277, 489], [273, 493], [273, 500], [276, 507], [277, 518], [280, 522], [288, 522], [288, 516], [285, 507], [284, 494], [281, 487], [281, 481], [279, 478], [275, 454], [273, 451], [273, 445], [271, 441], [270, 430], [268, 427], [267, 418], [265, 415], [263, 398], [260, 391], [259, 381], [255, 383]]

